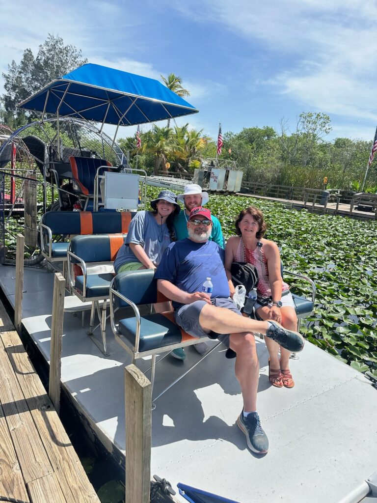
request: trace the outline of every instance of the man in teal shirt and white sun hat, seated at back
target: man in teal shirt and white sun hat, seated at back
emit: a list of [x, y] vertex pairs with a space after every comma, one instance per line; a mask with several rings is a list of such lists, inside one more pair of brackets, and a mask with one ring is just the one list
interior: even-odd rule
[[[202, 187], [197, 184], [189, 184], [184, 187], [183, 194], [178, 194], [177, 200], [180, 201], [184, 208], [180, 210], [178, 215], [174, 219], [174, 231], [177, 241], [189, 237], [189, 232], [187, 231], [187, 221], [189, 220], [190, 212], [193, 208], [198, 206], [204, 206], [209, 201], [208, 192], [202, 192]], [[212, 232], [209, 237], [209, 241], [215, 241], [221, 248], [224, 246], [224, 236], [221, 230], [221, 224], [219, 219], [212, 215]], [[208, 349], [207, 343], [198, 343], [194, 346], [199, 354], [203, 354]], [[172, 351], [171, 356], [177, 358], [178, 360], [184, 360], [186, 355], [183, 348], [178, 348]]]

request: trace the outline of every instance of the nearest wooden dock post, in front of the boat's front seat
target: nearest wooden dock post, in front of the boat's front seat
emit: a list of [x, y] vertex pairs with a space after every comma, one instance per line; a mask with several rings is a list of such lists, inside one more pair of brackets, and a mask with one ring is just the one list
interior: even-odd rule
[[152, 386], [135, 365], [125, 368], [126, 503], [149, 503]]

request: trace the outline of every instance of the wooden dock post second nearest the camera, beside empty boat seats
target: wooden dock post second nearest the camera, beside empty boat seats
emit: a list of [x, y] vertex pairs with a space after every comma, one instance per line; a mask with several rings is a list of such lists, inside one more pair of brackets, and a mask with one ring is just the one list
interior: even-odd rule
[[54, 276], [48, 396], [59, 414], [65, 279], [61, 273], [55, 273]]

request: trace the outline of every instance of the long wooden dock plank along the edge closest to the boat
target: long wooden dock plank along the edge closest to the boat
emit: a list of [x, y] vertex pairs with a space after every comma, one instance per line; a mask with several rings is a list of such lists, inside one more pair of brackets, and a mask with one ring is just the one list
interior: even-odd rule
[[[9, 327], [8, 314], [1, 304], [0, 317], [3, 319], [4, 326]], [[6, 348], [18, 383], [23, 390], [35, 428], [64, 494], [64, 501], [67, 503], [76, 503], [78, 500], [82, 503], [99, 502], [17, 332], [15, 330], [2, 332], [0, 329], [0, 340], [2, 346]], [[43, 483], [46, 484], [50, 477], [44, 478]]]

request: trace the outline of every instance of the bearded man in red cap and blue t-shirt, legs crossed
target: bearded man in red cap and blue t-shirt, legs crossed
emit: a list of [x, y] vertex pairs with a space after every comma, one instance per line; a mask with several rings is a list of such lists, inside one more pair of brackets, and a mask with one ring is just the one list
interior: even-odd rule
[[[171, 243], [164, 251], [155, 273], [157, 287], [172, 301], [175, 322], [183, 330], [195, 337], [219, 339], [235, 354], [235, 374], [243, 397], [237, 425], [248, 447], [262, 454], [268, 451], [268, 439], [256, 412], [259, 363], [253, 332], [263, 333], [296, 352], [303, 349], [304, 339], [275, 321], [242, 316], [229, 296], [224, 250], [209, 240], [211, 230], [210, 210], [194, 208], [187, 221], [189, 237]], [[202, 291], [207, 277], [213, 283], [212, 295]]]

